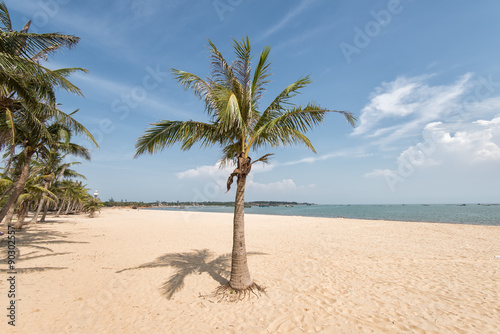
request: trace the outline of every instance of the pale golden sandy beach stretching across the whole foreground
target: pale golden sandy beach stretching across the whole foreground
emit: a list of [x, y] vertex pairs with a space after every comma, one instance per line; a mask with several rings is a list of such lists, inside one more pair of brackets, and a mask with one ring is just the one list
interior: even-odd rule
[[[16, 326], [0, 333], [498, 333], [500, 227], [246, 216], [267, 296], [207, 296], [232, 215], [104, 209], [17, 232]], [[0, 242], [7, 257], [7, 240]]]

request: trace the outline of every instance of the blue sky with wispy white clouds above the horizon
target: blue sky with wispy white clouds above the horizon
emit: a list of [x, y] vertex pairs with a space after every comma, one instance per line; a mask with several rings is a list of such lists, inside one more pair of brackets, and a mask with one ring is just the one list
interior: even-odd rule
[[[85, 98], [59, 94], [63, 109], [99, 141], [78, 171], [107, 200], [232, 201], [217, 148], [172, 147], [133, 159], [152, 122], [206, 120], [203, 104], [169, 68], [209, 75], [209, 38], [232, 60], [232, 39], [253, 53], [272, 47], [266, 105], [304, 75], [296, 103], [338, 114], [305, 147], [268, 149], [247, 200], [320, 204], [500, 202], [500, 2], [494, 0], [6, 1], [16, 30], [81, 38], [50, 66], [83, 67]], [[90, 147], [89, 143], [85, 145]], [[260, 154], [260, 155], [259, 155]]]

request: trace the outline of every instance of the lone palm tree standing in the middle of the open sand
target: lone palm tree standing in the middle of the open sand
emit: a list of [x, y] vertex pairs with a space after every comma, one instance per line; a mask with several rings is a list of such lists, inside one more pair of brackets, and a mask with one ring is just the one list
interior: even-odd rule
[[354, 126], [356, 118], [349, 112], [329, 110], [309, 103], [297, 106], [292, 103], [302, 88], [311, 83], [308, 76], [286, 87], [271, 104], [261, 109], [259, 102], [263, 97], [265, 85], [269, 82], [270, 47], [265, 47], [259, 62], [252, 73], [251, 48], [248, 37], [241, 42], [234, 40], [236, 60], [229, 64], [215, 45], [209, 40], [212, 76], [203, 80], [200, 77], [172, 69], [177, 81], [190, 89], [205, 103], [208, 122], [198, 121], [161, 121], [151, 127], [137, 140], [136, 157], [143, 153], [156, 153], [175, 143], [182, 150], [188, 150], [196, 143], [203, 147], [219, 146], [222, 149], [221, 163], [234, 162], [236, 168], [229, 176], [229, 191], [234, 177], [237, 189], [233, 220], [233, 248], [231, 276], [226, 286], [236, 293], [260, 290], [250, 276], [244, 234], [245, 183], [252, 165], [268, 162], [271, 154], [254, 161], [250, 152], [262, 147], [304, 144], [313, 152], [315, 149], [305, 132], [321, 124], [328, 112], [345, 116]]

